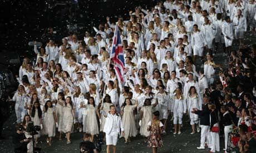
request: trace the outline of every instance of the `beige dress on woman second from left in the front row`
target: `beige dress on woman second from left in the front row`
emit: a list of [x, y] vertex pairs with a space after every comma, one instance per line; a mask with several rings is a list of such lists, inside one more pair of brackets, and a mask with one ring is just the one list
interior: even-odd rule
[[48, 137], [55, 136], [55, 120], [53, 116], [53, 108], [48, 108], [45, 112], [45, 117], [43, 118], [43, 133], [48, 135]]

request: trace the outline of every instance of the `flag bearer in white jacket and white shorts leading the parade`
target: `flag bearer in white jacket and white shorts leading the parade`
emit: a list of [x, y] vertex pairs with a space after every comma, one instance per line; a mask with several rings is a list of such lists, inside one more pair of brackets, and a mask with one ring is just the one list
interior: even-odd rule
[[120, 129], [122, 135], [125, 135], [124, 125], [121, 121], [121, 116], [116, 113], [116, 107], [114, 105], [110, 106], [110, 112], [105, 113], [106, 122], [104, 125], [104, 132], [106, 133], [106, 145], [107, 153], [110, 153], [110, 147], [112, 146], [112, 152], [116, 152], [117, 137], [120, 135]]

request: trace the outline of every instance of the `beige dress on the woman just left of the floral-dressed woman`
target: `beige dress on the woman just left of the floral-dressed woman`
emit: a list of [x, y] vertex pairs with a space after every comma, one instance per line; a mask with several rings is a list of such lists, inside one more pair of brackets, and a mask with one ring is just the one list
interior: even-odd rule
[[150, 131], [147, 131], [147, 123], [152, 120], [152, 106], [143, 106], [141, 111], [143, 111], [143, 117], [141, 119], [140, 134], [147, 137], [150, 134]]

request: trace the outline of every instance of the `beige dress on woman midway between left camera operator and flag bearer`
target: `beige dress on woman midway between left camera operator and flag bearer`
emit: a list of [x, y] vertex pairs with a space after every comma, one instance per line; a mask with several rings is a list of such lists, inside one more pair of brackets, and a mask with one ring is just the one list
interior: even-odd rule
[[69, 103], [63, 106], [62, 124], [62, 131], [64, 133], [73, 132], [74, 118], [72, 115], [72, 106]]

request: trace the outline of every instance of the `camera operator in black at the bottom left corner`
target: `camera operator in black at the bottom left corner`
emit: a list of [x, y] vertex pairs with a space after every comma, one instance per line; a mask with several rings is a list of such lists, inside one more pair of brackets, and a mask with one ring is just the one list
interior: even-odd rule
[[27, 152], [27, 145], [31, 141], [31, 139], [27, 139], [24, 132], [23, 126], [17, 125], [16, 132], [12, 136], [12, 143], [14, 145], [14, 152], [15, 153], [26, 153]]

